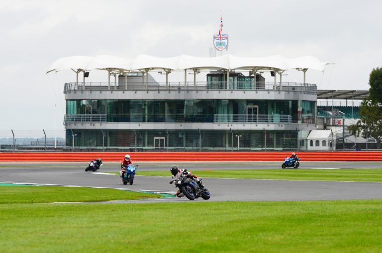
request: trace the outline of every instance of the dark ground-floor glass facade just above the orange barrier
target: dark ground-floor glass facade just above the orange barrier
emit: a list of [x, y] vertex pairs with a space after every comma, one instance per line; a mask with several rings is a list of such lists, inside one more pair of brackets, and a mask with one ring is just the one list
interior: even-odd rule
[[[237, 137], [240, 150], [282, 150], [297, 149], [297, 131], [262, 130], [90, 130], [72, 129], [76, 147], [104, 147], [121, 149], [224, 149], [237, 150]], [[102, 138], [103, 137], [103, 138]], [[72, 146], [71, 129], [66, 130], [67, 146]]]

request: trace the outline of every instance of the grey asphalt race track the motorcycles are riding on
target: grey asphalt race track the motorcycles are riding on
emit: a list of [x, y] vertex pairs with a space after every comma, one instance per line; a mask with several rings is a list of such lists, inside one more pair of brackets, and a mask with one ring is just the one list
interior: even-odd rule
[[[170, 185], [173, 162], [140, 162], [134, 184], [123, 185], [118, 175], [85, 172], [87, 162], [0, 163], [0, 182], [55, 184], [86, 187], [106, 187], [126, 190], [174, 192]], [[200, 169], [280, 169], [281, 162], [179, 162], [181, 168]], [[104, 162], [99, 172], [117, 172], [120, 163]], [[381, 168], [382, 162], [302, 162], [301, 169]], [[140, 170], [167, 170], [169, 177], [139, 176]], [[210, 200], [195, 201], [260, 201], [260, 200], [330, 200], [368, 199], [382, 197], [382, 183], [292, 181], [255, 179], [203, 178], [211, 192]], [[187, 198], [167, 198], [147, 201], [186, 201]], [[139, 202], [139, 201], [135, 201]]]

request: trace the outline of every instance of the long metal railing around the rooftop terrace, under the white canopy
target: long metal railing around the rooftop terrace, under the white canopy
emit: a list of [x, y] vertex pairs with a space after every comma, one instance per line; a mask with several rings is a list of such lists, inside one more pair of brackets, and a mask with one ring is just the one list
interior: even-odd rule
[[296, 82], [85, 82], [65, 83], [64, 93], [77, 91], [181, 91], [181, 90], [267, 90], [317, 94], [317, 85]]

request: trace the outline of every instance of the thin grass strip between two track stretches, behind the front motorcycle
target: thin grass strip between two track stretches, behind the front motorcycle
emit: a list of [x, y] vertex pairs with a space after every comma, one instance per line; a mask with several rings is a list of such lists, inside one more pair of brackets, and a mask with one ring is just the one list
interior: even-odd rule
[[[241, 179], [287, 179], [382, 182], [382, 169], [280, 169], [280, 170], [192, 170], [193, 174], [205, 178]], [[118, 173], [113, 173], [118, 174]], [[139, 171], [142, 176], [167, 176], [169, 171]]]

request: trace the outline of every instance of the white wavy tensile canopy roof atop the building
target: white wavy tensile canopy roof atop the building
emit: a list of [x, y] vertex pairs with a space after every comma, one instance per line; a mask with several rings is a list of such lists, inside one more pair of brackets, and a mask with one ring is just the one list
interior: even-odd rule
[[287, 59], [282, 56], [270, 56], [259, 58], [237, 57], [224, 55], [214, 58], [192, 57], [181, 55], [172, 58], [160, 58], [148, 55], [140, 55], [135, 59], [126, 59], [117, 56], [72, 56], [58, 59], [52, 63], [47, 70], [60, 71], [63, 69], [118, 69], [118, 70], [139, 70], [139, 69], [231, 69], [231, 70], [287, 70], [293, 68], [316, 69], [322, 71], [325, 64], [313, 56]]

